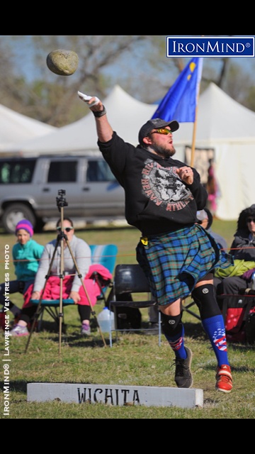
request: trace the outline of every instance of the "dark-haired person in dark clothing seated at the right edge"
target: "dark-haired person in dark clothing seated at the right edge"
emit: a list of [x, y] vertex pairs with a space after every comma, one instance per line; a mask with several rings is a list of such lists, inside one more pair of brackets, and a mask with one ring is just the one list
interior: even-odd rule
[[[241, 276], [214, 277], [214, 284], [217, 288], [217, 295], [240, 294], [244, 289], [251, 289], [251, 275], [255, 272], [255, 204], [241, 211], [237, 220], [237, 231], [234, 233], [234, 240], [230, 246], [229, 253], [235, 260], [254, 261], [254, 268]], [[229, 297], [228, 297], [229, 298]], [[223, 299], [218, 298], [218, 304], [223, 306]]]

